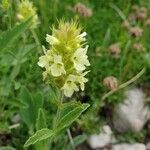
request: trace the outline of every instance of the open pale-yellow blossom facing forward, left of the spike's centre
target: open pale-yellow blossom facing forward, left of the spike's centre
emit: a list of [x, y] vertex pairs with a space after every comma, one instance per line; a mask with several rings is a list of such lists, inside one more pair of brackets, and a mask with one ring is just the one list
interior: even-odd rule
[[50, 66], [50, 71], [55, 77], [66, 74], [64, 64], [62, 63], [62, 57], [60, 55], [54, 55], [54, 63]]

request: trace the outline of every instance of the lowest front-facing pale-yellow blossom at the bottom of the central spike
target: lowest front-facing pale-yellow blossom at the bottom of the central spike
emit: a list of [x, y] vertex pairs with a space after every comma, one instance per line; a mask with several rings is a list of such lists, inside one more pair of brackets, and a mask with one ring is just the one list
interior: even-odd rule
[[79, 91], [78, 86], [76, 85], [77, 77], [75, 75], [69, 75], [62, 90], [64, 91], [64, 95], [67, 97], [71, 97], [74, 91]]

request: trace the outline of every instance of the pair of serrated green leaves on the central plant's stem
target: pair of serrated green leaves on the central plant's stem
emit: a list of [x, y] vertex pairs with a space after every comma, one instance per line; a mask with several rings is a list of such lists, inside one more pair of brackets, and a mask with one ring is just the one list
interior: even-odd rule
[[24, 147], [28, 147], [31, 144], [35, 144], [36, 142], [47, 138], [57, 136], [60, 131], [69, 127], [88, 107], [89, 104], [81, 104], [77, 102], [63, 104], [57, 116], [54, 129], [50, 130], [48, 128], [43, 128], [38, 130], [26, 141]]

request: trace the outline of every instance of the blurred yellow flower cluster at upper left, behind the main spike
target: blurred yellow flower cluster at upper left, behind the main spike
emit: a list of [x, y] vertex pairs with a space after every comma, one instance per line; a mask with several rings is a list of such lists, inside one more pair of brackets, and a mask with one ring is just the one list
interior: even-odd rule
[[31, 28], [37, 27], [39, 20], [36, 13], [36, 8], [33, 6], [32, 2], [29, 2], [28, 0], [21, 1], [17, 10], [17, 19], [19, 21], [25, 21], [32, 17]]

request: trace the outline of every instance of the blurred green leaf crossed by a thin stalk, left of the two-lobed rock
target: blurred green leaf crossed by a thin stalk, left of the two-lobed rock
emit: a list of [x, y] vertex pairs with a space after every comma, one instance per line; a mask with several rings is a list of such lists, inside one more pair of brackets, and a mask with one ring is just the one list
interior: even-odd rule
[[[75, 146], [78, 146], [78, 145], [82, 144], [86, 139], [87, 139], [86, 135], [84, 135], [84, 134], [83, 135], [78, 135], [75, 138], [73, 138], [73, 143], [74, 143]], [[66, 150], [72, 150], [71, 143], [69, 143]]]

